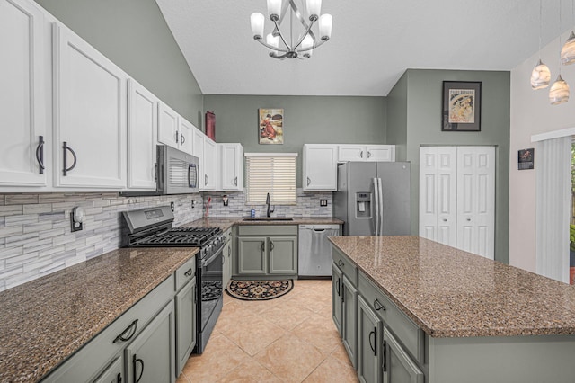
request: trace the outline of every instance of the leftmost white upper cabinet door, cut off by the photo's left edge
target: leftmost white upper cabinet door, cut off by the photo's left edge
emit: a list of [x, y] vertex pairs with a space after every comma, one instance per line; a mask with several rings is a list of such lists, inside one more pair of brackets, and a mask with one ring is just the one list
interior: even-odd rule
[[52, 170], [42, 26], [35, 4], [0, 0], [0, 186], [46, 186]]

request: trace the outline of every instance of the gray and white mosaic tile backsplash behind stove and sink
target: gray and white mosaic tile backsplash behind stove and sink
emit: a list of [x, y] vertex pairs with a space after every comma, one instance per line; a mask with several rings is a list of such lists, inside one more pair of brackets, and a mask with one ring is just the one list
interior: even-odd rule
[[[248, 217], [243, 191], [155, 197], [121, 197], [118, 193], [0, 194], [0, 291], [32, 281], [75, 263], [119, 248], [124, 227], [121, 212], [174, 202], [174, 225], [209, 217]], [[320, 207], [320, 200], [328, 206]], [[192, 208], [192, 201], [194, 207]], [[84, 230], [71, 232], [70, 212], [84, 208]], [[253, 206], [258, 217], [266, 206]], [[331, 217], [332, 193], [297, 192], [297, 205], [276, 206], [278, 217]]]

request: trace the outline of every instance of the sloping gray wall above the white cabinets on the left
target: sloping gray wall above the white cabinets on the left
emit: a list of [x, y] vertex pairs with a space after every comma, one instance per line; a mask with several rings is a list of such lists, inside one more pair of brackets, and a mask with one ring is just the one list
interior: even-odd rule
[[154, 0], [36, 0], [198, 128], [203, 94]]

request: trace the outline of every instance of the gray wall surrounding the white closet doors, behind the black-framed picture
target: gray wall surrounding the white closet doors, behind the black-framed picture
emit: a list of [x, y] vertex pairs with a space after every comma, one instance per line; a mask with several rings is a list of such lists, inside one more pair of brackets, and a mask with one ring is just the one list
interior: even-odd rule
[[[420, 145], [496, 146], [495, 259], [509, 263], [509, 72], [409, 69], [403, 77], [406, 81], [400, 81], [390, 97], [401, 98], [407, 87], [406, 159], [411, 161], [412, 172], [411, 232], [418, 232]], [[441, 131], [444, 80], [482, 82], [482, 131]], [[389, 125], [388, 137], [394, 137], [394, 129], [403, 136], [402, 125]]]

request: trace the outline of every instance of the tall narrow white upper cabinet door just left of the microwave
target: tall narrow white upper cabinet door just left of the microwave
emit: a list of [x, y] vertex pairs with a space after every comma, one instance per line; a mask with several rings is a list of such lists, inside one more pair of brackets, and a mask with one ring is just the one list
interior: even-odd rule
[[142, 85], [128, 84], [128, 189], [155, 190], [159, 100]]

